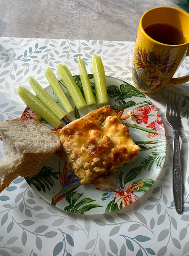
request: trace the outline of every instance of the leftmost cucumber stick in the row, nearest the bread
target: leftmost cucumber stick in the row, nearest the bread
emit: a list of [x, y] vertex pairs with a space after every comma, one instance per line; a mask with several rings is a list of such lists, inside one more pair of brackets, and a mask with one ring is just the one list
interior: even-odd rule
[[61, 126], [61, 121], [55, 114], [53, 114], [50, 109], [48, 109], [43, 102], [40, 101], [32, 92], [30, 92], [24, 86], [19, 86], [18, 95], [24, 101], [24, 103], [33, 111], [35, 111], [39, 116], [45, 119], [53, 127], [58, 128]]

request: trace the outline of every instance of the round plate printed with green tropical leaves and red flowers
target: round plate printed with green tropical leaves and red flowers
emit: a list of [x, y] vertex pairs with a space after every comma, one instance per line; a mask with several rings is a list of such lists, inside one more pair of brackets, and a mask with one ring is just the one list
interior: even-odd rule
[[[93, 76], [89, 74], [89, 78], [94, 89]], [[82, 91], [80, 77], [77, 75], [74, 79]], [[58, 160], [56, 155], [46, 163], [38, 176], [26, 177], [26, 181], [40, 197], [66, 211], [92, 215], [126, 207], [149, 190], [163, 167], [166, 155], [165, 129], [155, 106], [144, 94], [125, 81], [106, 76], [106, 82], [108, 104], [128, 127], [134, 142], [141, 147], [141, 155], [135, 161], [117, 168], [118, 187], [108, 190], [97, 190], [93, 184], [81, 184], [73, 172], [67, 170], [65, 161]], [[61, 86], [64, 87], [62, 83]], [[45, 90], [60, 104], [50, 86]], [[68, 93], [66, 89], [65, 92]], [[63, 118], [63, 122], [68, 124], [97, 107], [102, 106], [95, 104], [79, 110], [75, 107], [73, 112]], [[131, 118], [128, 113], [130, 110], [133, 112]], [[23, 116], [43, 122], [39, 115], [28, 108]], [[50, 124], [46, 125], [53, 131], [57, 130]]]

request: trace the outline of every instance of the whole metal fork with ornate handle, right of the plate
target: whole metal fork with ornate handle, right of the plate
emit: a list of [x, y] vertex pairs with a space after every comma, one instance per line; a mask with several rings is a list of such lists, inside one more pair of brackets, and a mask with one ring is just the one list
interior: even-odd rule
[[173, 183], [173, 197], [175, 209], [178, 213], [183, 212], [183, 175], [181, 169], [181, 151], [179, 144], [179, 134], [178, 127], [180, 123], [180, 113], [179, 113], [179, 99], [176, 102], [176, 95], [174, 98], [172, 106], [172, 97], [170, 97], [169, 103], [169, 94], [167, 97], [166, 104], [166, 118], [170, 126], [173, 128], [174, 132], [174, 144], [173, 144], [173, 173], [172, 173], [172, 183]]

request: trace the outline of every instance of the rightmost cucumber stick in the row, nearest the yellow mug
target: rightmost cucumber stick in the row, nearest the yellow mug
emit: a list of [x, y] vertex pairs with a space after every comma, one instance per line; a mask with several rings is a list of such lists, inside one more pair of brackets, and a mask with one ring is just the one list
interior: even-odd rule
[[97, 96], [97, 104], [105, 104], [108, 102], [106, 77], [102, 60], [98, 55], [92, 56], [92, 72]]

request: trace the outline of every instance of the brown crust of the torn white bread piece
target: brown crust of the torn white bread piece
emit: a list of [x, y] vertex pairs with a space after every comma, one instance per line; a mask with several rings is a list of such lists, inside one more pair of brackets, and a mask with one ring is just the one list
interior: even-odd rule
[[[25, 121], [25, 120], [32, 120], [32, 122], [37, 122], [41, 126], [45, 126], [44, 124], [40, 123], [37, 119], [27, 119], [25, 117], [18, 118], [18, 119], [13, 119], [11, 121], [10, 120], [6, 120], [6, 121], [8, 121], [8, 122], [17, 122], [17, 121]], [[45, 126], [45, 127], [48, 127], [48, 126]], [[50, 127], [48, 127], [48, 129], [50, 129]], [[53, 132], [53, 134], [55, 136], [57, 136], [54, 132]], [[58, 138], [58, 136], [57, 136], [57, 138]], [[15, 168], [10, 170], [3, 177], [3, 183], [2, 183], [2, 185], [0, 185], [0, 192], [2, 192], [6, 187], [8, 187], [10, 185], [10, 183], [13, 180], [15, 180], [15, 178], [17, 178], [18, 176], [33, 177], [34, 175], [39, 173], [40, 170], [42, 169], [43, 165], [56, 152], [59, 145], [60, 145], [60, 140], [59, 140], [59, 143], [57, 143], [57, 147], [55, 147], [54, 150], [51, 150], [49, 152], [30, 152], [30, 151], [24, 150], [21, 161], [15, 166]]]

